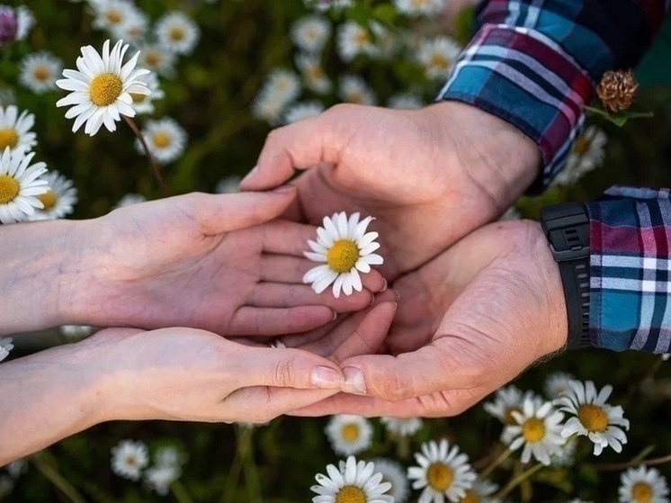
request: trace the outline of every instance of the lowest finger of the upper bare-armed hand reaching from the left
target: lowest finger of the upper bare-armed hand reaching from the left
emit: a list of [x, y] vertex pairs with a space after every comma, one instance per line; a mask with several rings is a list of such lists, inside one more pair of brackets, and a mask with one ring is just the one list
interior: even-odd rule
[[228, 336], [282, 336], [306, 332], [332, 321], [336, 312], [327, 306], [238, 309], [228, 326]]

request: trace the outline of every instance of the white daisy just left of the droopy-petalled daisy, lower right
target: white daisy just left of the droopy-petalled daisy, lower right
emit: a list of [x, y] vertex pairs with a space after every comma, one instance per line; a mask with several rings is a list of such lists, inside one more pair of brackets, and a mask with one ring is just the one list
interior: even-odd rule
[[561, 436], [564, 414], [554, 409], [552, 402], [543, 402], [539, 398], [527, 398], [522, 404], [522, 412], [513, 411], [517, 422], [506, 426], [505, 437], [510, 439], [511, 451], [523, 446], [522, 463], [532, 459], [550, 465], [550, 457], [561, 452], [566, 439]]

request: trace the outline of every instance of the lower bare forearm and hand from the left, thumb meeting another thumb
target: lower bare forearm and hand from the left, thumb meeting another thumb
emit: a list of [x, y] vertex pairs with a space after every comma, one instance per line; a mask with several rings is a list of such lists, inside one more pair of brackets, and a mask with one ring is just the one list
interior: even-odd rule
[[[375, 352], [390, 292], [322, 341], [243, 346], [195, 328], [108, 328], [0, 366], [0, 466], [112, 419], [264, 422], [338, 392], [338, 364]], [[320, 355], [318, 355], [319, 353]]]

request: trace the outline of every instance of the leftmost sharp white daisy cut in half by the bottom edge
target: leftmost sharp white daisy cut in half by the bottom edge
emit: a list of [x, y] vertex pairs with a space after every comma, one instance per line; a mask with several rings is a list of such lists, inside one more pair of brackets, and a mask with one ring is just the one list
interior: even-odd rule
[[385, 494], [389, 482], [382, 481], [382, 474], [375, 472], [373, 463], [356, 462], [353, 456], [340, 462], [340, 470], [335, 465], [327, 465], [327, 475], [318, 473], [315, 480], [319, 485], [310, 490], [318, 496], [313, 503], [394, 503], [394, 499]]

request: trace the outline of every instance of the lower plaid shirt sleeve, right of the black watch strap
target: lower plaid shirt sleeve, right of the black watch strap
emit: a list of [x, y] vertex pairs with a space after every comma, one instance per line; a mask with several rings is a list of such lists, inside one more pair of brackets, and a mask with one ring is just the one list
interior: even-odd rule
[[671, 193], [615, 186], [586, 209], [592, 346], [671, 353]]

